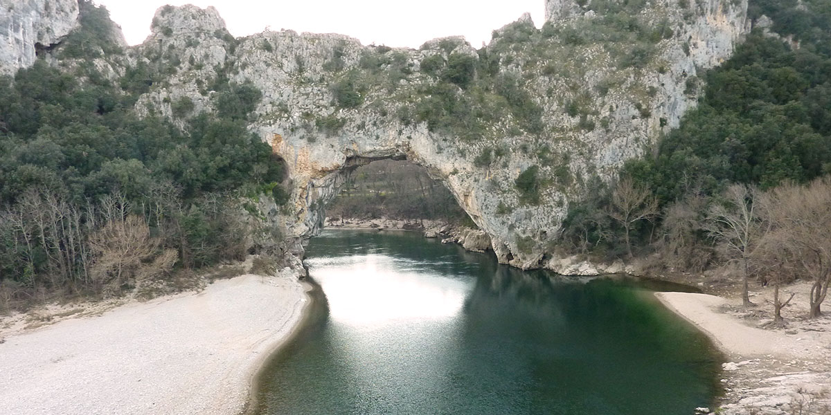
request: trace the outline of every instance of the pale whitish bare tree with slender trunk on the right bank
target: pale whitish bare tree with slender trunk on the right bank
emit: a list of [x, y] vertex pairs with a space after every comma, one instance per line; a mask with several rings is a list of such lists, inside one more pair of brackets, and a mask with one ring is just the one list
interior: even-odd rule
[[721, 253], [730, 260], [741, 262], [741, 300], [751, 305], [748, 294], [750, 261], [759, 247], [762, 223], [755, 211], [754, 200], [758, 190], [752, 186], [733, 184], [725, 191], [724, 203], [715, 203], [707, 215], [705, 229], [715, 238]]

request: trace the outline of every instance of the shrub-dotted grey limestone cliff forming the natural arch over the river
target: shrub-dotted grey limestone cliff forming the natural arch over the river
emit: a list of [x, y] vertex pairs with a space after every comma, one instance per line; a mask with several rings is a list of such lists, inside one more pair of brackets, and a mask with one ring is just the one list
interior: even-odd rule
[[[288, 209], [267, 216], [295, 251], [353, 168], [408, 159], [484, 232], [489, 243], [476, 238], [477, 247], [524, 269], [571, 269], [550, 249], [569, 205], [676, 127], [696, 104], [697, 76], [727, 59], [748, 27], [746, 0], [638, 7], [549, 0], [543, 31], [524, 16], [479, 51], [459, 37], [420, 50], [292, 31], [234, 40], [211, 8], [163, 7], [131, 53], [177, 71], [136, 109], [172, 117], [170, 102], [188, 96], [194, 115], [212, 110], [199, 80], [219, 76], [261, 90], [251, 129], [285, 160], [293, 188]], [[531, 178], [525, 190], [521, 173]]]

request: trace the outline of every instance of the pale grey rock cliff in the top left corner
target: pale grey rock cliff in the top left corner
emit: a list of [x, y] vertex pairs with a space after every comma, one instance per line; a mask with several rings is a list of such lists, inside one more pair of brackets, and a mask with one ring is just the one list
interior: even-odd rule
[[32, 66], [38, 49], [78, 26], [77, 0], [0, 0], [0, 75]]

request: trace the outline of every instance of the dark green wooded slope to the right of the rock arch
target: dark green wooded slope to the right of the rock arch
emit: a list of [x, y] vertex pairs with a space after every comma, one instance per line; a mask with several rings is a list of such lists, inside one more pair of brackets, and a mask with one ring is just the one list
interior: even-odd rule
[[[797, 209], [829, 192], [822, 178], [831, 173], [831, 8], [819, 1], [751, 2], [750, 17], [759, 21], [762, 15], [772, 18], [773, 32], [757, 27], [730, 60], [706, 74], [705, 93], [680, 128], [652, 155], [630, 160], [616, 186], [597, 183], [583, 203], [570, 207], [563, 234], [569, 249], [622, 256], [631, 232], [635, 250], [656, 251], [663, 266], [701, 271], [738, 261], [745, 276], [780, 278], [784, 272], [823, 281], [812, 305], [824, 296], [819, 293], [829, 273], [823, 263], [831, 258], [822, 253], [821, 238], [814, 238], [814, 253], [794, 241], [827, 232], [831, 216], [823, 203], [811, 205], [812, 212]], [[799, 190], [805, 183], [812, 184]], [[750, 190], [737, 198], [735, 186]], [[651, 193], [639, 209], [652, 215], [627, 229], [610, 212], [622, 205], [617, 196], [632, 190]], [[753, 212], [754, 203], [773, 199], [781, 208], [767, 203], [764, 211], [740, 218]], [[799, 215], [813, 217], [815, 225], [784, 226], [784, 217]], [[737, 232], [742, 222], [745, 237], [725, 236], [730, 232], [724, 227]], [[797, 228], [801, 236], [790, 232]], [[771, 229], [776, 232], [769, 234]], [[814, 278], [817, 273], [822, 277]]]

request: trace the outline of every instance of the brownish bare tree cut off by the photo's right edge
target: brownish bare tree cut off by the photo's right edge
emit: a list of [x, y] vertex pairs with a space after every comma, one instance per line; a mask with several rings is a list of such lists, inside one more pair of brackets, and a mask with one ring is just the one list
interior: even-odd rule
[[813, 281], [809, 317], [818, 317], [831, 283], [831, 178], [808, 186], [786, 183], [767, 194], [765, 206], [780, 249]]

